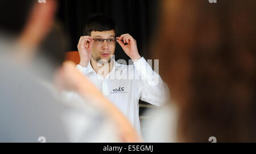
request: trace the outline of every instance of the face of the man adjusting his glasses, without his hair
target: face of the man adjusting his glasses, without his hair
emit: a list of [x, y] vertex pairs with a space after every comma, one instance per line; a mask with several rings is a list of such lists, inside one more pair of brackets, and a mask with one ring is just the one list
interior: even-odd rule
[[[93, 31], [90, 35], [93, 38], [115, 38], [115, 32], [112, 31]], [[110, 62], [110, 55], [115, 53], [115, 43], [108, 43], [106, 40], [102, 43], [98, 43], [97, 40], [94, 40], [92, 44], [92, 58], [94, 61], [101, 63]]]

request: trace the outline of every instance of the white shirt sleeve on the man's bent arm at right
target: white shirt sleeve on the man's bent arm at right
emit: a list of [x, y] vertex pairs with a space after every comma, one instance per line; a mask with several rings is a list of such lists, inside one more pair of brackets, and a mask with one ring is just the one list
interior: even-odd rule
[[[158, 61], [155, 61], [155, 63], [158, 63]], [[135, 78], [136, 76], [138, 78], [136, 80], [138, 82], [136, 89], [139, 99], [156, 106], [161, 106], [170, 100], [170, 91], [167, 84], [152, 70], [144, 57], [134, 62], [134, 66]], [[155, 70], [158, 70], [157, 64], [155, 65]]]

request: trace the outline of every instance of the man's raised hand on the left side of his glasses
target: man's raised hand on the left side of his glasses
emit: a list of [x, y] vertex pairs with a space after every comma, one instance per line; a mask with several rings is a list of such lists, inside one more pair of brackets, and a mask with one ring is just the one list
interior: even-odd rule
[[77, 49], [79, 50], [80, 63], [82, 67], [87, 67], [92, 57], [93, 38], [90, 36], [81, 36]]

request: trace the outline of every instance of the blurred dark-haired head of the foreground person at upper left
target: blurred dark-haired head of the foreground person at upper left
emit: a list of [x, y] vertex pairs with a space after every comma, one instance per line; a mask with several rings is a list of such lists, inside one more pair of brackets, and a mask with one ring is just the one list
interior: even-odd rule
[[[61, 65], [64, 60], [64, 50], [59, 44], [63, 38], [57, 37], [61, 32], [57, 25], [53, 26], [57, 3], [48, 0], [38, 3], [34, 0], [0, 2], [2, 35], [11, 35], [18, 42], [19, 48], [15, 52], [21, 53], [23, 59], [38, 58], [46, 55], [55, 64]], [[57, 37], [57, 39], [52, 39]], [[55, 41], [54, 41], [55, 40]], [[59, 46], [52, 48], [51, 46]], [[37, 50], [38, 48], [42, 48]], [[37, 53], [40, 51], [40, 53]]]

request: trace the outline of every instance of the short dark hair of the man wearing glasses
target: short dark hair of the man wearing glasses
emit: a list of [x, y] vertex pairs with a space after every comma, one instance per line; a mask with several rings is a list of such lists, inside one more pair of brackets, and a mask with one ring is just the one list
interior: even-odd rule
[[85, 22], [83, 35], [90, 36], [93, 31], [111, 31], [114, 30], [117, 36], [117, 24], [108, 16], [101, 14], [90, 14]]

